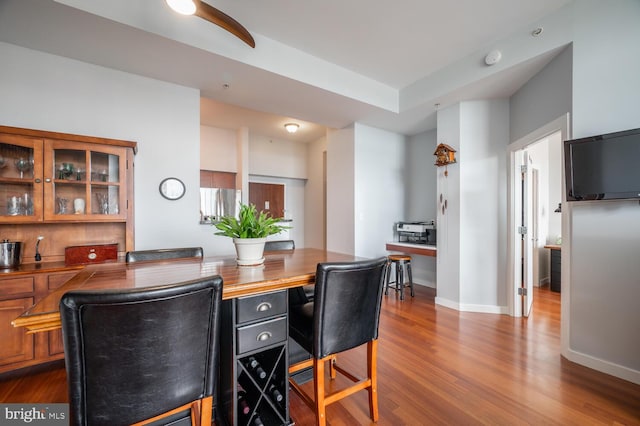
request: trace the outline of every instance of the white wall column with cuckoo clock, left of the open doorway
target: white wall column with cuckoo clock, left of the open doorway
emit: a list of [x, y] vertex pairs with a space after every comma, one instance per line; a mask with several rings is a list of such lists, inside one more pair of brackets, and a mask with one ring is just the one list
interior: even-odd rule
[[508, 100], [461, 102], [439, 112], [438, 142], [458, 151], [458, 163], [446, 177], [444, 167], [438, 170], [447, 207], [443, 214], [439, 204], [436, 303], [506, 312]]

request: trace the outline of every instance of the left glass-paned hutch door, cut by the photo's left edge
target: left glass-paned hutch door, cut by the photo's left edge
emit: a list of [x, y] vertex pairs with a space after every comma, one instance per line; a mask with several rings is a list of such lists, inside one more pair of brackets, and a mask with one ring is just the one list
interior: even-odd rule
[[0, 217], [42, 218], [42, 140], [0, 135]]

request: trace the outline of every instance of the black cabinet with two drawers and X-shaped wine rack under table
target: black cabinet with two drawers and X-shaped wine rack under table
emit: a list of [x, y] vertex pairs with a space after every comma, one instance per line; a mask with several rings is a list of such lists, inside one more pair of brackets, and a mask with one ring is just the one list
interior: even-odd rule
[[225, 301], [221, 356], [222, 424], [291, 424], [286, 291]]

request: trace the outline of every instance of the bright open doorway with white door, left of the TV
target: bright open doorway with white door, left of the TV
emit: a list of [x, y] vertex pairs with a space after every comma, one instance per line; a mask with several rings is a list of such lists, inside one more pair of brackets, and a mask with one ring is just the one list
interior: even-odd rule
[[[562, 141], [569, 138], [568, 121], [567, 114], [509, 146], [508, 292], [509, 313], [515, 317], [527, 316], [532, 287], [547, 285], [550, 255], [544, 246], [562, 235], [562, 215], [555, 210], [563, 199]], [[528, 167], [524, 183], [523, 165]]]

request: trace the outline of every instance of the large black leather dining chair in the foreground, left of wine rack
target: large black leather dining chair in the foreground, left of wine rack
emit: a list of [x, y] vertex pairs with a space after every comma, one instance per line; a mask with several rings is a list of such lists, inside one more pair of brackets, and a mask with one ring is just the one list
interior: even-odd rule
[[64, 294], [69, 424], [211, 425], [221, 300], [220, 276]]

